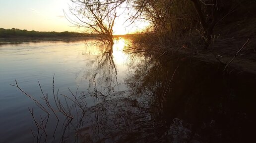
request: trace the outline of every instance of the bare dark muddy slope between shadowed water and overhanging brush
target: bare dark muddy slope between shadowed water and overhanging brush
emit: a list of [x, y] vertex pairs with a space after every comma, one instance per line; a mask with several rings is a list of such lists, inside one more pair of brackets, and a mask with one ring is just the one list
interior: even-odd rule
[[[245, 42], [246, 41], [247, 40], [245, 40]], [[240, 48], [238, 48], [238, 45], [240, 45]], [[184, 44], [180, 44], [180, 46], [177, 47], [161, 50], [161, 52], [164, 52], [165, 55], [170, 56], [171, 58], [173, 56], [181, 59], [195, 58], [205, 62], [218, 63], [224, 67], [229, 65], [226, 71], [228, 73], [233, 71], [245, 71], [256, 74], [256, 52], [248, 53], [248, 50], [252, 50], [248, 49], [248, 47], [250, 47], [248, 44], [238, 52], [242, 46], [243, 43], [240, 42], [235, 49], [219, 47], [211, 50], [195, 48], [193, 46], [185, 47]]]

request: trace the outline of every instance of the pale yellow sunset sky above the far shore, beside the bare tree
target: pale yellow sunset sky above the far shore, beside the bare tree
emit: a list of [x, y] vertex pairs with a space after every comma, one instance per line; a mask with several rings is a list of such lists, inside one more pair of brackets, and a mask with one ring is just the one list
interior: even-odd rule
[[[72, 5], [70, 0], [0, 0], [0, 28], [84, 32], [84, 29], [78, 29], [65, 18], [64, 11], [68, 14], [68, 4]], [[114, 34], [122, 35], [142, 29], [125, 27], [124, 21], [122, 17], [116, 20]]]

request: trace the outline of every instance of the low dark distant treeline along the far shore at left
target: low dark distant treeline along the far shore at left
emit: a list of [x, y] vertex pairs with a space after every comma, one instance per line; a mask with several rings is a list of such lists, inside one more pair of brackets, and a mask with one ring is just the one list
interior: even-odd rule
[[0, 37], [95, 37], [94, 34], [76, 33], [76, 32], [38, 32], [20, 29], [3, 29], [0, 28]]

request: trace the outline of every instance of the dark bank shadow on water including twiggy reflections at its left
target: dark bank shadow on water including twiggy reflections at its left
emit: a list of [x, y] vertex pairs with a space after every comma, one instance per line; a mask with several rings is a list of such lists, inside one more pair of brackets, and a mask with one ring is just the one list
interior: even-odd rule
[[128, 95], [90, 108], [93, 114], [78, 132], [84, 143], [254, 139], [255, 75], [224, 75], [222, 65], [192, 59], [144, 58], [129, 66], [136, 70], [126, 79]]

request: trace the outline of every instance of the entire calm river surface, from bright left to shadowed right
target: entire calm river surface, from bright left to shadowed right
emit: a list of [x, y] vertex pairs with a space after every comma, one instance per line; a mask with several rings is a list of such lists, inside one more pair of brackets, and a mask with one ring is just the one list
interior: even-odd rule
[[[238, 70], [224, 75], [222, 65], [124, 52], [127, 43], [118, 38], [111, 49], [93, 39], [1, 39], [0, 143], [244, 143], [254, 139], [255, 75]], [[59, 107], [73, 119], [56, 111], [58, 122], [47, 108], [48, 116], [10, 85], [15, 79], [46, 108], [38, 81], [56, 110], [54, 97], [59, 89]], [[28, 107], [33, 108], [34, 119]]]

